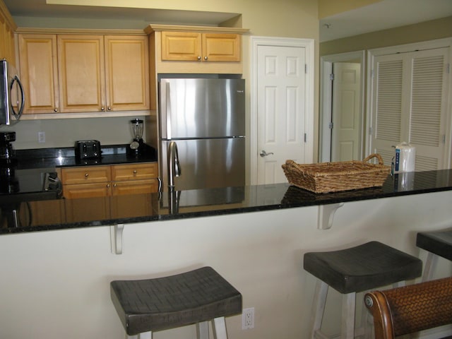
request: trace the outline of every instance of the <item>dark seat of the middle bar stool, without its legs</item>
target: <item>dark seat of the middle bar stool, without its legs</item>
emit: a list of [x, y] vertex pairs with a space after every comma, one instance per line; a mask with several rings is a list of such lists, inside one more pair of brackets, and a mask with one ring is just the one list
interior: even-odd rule
[[422, 261], [381, 242], [304, 254], [304, 269], [338, 292], [362, 292], [422, 274]]

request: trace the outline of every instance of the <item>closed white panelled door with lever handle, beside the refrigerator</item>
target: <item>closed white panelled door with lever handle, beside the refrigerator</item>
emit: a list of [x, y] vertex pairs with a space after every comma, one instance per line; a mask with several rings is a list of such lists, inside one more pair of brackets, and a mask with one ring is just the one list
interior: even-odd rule
[[281, 165], [305, 160], [304, 47], [258, 46], [257, 184], [287, 182]]

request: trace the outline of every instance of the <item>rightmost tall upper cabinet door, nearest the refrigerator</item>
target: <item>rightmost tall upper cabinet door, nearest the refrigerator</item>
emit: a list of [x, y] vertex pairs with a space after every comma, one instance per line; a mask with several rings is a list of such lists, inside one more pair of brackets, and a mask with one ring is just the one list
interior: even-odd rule
[[105, 36], [107, 111], [149, 109], [148, 37]]

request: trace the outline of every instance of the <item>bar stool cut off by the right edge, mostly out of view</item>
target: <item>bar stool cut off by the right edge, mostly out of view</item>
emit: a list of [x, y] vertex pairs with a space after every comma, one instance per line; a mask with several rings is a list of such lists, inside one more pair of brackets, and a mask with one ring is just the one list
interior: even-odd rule
[[438, 258], [452, 261], [452, 229], [436, 232], [418, 232], [416, 246], [428, 251], [422, 281], [432, 280]]

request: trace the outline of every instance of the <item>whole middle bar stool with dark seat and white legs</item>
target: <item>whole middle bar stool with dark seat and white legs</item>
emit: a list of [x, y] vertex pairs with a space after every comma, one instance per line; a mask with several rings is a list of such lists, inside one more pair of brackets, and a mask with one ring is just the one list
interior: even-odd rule
[[306, 253], [304, 269], [319, 279], [311, 338], [328, 338], [321, 325], [328, 287], [333, 287], [343, 295], [340, 338], [350, 339], [355, 338], [356, 293], [420, 277], [422, 261], [381, 242], [367, 242], [338, 251]]

